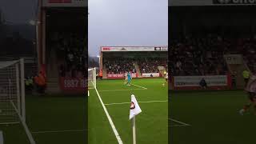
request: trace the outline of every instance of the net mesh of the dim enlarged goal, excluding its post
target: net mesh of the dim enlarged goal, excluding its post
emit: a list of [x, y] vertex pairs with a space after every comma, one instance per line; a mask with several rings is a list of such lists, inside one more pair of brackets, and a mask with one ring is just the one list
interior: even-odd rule
[[14, 106], [20, 110], [20, 66], [15, 62], [0, 62], [0, 124], [19, 122]]

